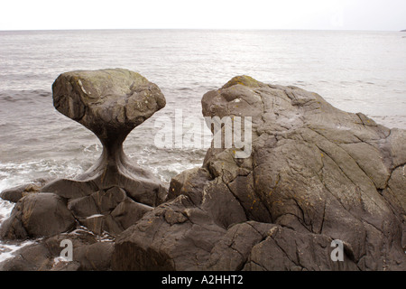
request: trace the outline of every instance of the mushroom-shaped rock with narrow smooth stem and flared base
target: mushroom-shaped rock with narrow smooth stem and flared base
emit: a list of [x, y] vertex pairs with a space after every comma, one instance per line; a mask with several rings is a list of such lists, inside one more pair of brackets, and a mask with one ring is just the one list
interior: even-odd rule
[[[160, 180], [130, 163], [123, 151], [125, 137], [134, 127], [165, 106], [157, 85], [130, 70], [77, 70], [62, 73], [52, 92], [54, 107], [95, 133], [103, 153], [88, 172], [74, 180], [49, 182], [41, 191], [67, 199], [79, 220], [95, 214], [111, 219], [107, 215], [127, 197], [148, 207], [165, 199]], [[95, 196], [103, 200], [96, 198], [97, 202]]]

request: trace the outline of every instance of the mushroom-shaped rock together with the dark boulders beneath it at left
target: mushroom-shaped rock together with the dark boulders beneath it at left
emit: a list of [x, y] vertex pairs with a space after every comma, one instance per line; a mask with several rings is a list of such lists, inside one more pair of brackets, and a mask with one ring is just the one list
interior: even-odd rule
[[125, 137], [164, 107], [165, 98], [155, 84], [123, 69], [63, 73], [52, 93], [54, 107], [94, 132], [103, 153], [74, 180], [39, 181], [4, 191], [2, 197], [18, 202], [0, 235], [50, 237], [86, 226], [116, 236], [166, 196], [159, 179], [130, 163], [123, 151]]

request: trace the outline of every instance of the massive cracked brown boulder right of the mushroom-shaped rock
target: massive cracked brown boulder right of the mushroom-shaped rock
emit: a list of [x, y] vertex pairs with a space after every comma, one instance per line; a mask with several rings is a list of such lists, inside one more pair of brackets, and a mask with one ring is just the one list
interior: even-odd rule
[[168, 200], [116, 238], [113, 269], [406, 269], [404, 130], [246, 76], [202, 107], [251, 117], [252, 154], [213, 147], [173, 178]]

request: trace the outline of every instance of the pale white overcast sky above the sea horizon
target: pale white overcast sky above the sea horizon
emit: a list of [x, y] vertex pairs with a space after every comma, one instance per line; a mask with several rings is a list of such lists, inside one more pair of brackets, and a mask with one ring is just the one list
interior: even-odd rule
[[0, 30], [406, 29], [406, 0], [1, 0]]

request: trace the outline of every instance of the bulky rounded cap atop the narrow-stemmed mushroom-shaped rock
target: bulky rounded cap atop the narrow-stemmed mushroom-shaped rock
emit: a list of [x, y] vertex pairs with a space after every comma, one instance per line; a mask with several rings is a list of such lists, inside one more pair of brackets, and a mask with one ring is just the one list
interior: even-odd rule
[[158, 86], [139, 73], [123, 69], [62, 73], [52, 92], [54, 107], [88, 127], [104, 144], [125, 137], [165, 107]]

